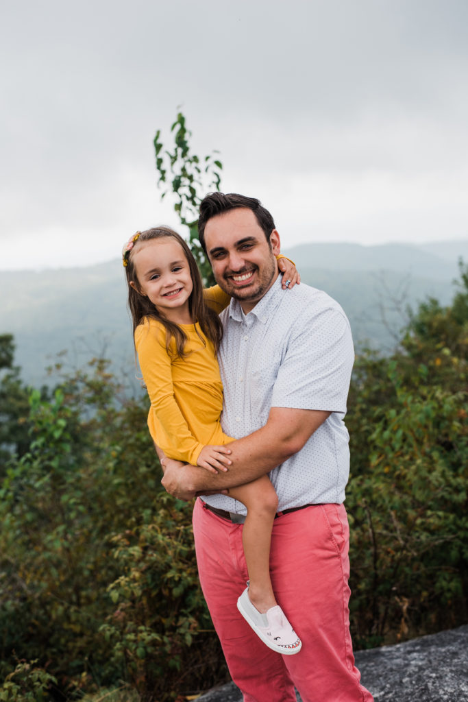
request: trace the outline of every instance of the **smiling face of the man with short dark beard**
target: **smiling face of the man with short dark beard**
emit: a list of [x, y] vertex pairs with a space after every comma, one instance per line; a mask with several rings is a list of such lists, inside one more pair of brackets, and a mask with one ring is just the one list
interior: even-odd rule
[[212, 217], [205, 227], [205, 245], [218, 285], [250, 312], [278, 277], [279, 234], [270, 243], [253, 211], [236, 208]]

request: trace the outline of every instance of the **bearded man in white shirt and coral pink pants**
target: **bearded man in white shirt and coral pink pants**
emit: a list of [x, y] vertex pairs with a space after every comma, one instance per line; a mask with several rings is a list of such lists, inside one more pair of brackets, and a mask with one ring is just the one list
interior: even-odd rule
[[[232, 296], [222, 312], [222, 427], [239, 440], [230, 444], [228, 472], [166, 459], [163, 485], [182, 499], [202, 496], [194, 508], [200, 581], [229, 671], [246, 702], [294, 702], [294, 685], [303, 702], [370, 702], [349, 636], [342, 505], [349, 474], [342, 418], [354, 362], [349, 323], [322, 291], [301, 284], [283, 292], [279, 234], [258, 200], [208, 195], [199, 238], [215, 279]], [[248, 577], [245, 508], [229, 488], [268, 472], [279, 498], [272, 584], [302, 640], [295, 656], [267, 648], [236, 609]]]

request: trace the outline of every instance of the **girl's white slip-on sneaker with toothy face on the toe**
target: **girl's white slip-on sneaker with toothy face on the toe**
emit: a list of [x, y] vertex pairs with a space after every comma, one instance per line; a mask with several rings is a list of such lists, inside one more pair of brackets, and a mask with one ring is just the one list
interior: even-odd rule
[[266, 614], [262, 614], [250, 602], [248, 588], [246, 588], [237, 600], [237, 609], [253, 628], [255, 634], [270, 649], [283, 654], [283, 656], [293, 656], [293, 654], [299, 653], [302, 642], [279, 604], [276, 604], [276, 607], [271, 607]]

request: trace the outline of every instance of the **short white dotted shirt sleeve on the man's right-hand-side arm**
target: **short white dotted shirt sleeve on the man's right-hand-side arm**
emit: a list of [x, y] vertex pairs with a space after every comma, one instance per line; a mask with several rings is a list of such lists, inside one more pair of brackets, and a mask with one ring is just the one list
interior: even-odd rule
[[333, 308], [306, 314], [300, 329], [290, 336], [274, 383], [272, 406], [345, 414], [353, 364], [345, 314]]

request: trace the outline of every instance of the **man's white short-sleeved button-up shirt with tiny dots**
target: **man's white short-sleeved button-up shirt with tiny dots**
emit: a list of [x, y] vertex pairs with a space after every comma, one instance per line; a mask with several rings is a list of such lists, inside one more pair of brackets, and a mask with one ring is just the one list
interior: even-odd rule
[[[279, 511], [309, 503], [342, 503], [349, 476], [343, 418], [354, 363], [349, 322], [340, 305], [303, 283], [281, 288], [281, 276], [251, 312], [232, 300], [221, 314], [218, 359], [225, 390], [222, 428], [240, 439], [267, 423], [272, 407], [330, 411], [305, 446], [269, 473]], [[268, 446], [265, 446], [268, 451]], [[226, 495], [203, 498], [246, 514]]]

